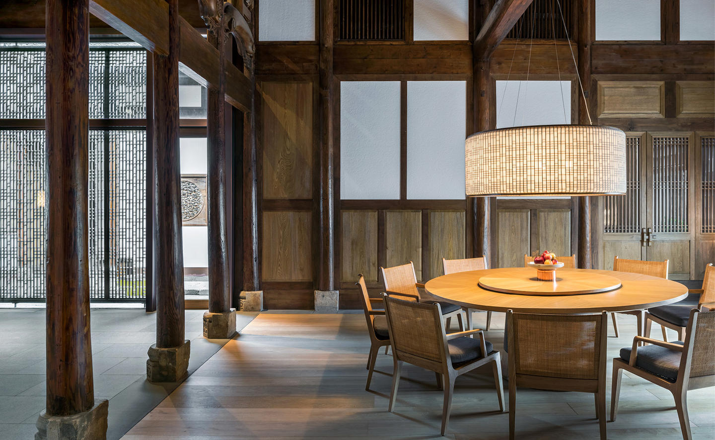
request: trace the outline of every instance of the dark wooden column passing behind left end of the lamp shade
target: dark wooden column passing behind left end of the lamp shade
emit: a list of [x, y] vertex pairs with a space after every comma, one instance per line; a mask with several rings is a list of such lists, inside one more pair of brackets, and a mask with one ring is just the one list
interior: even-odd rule
[[[474, 131], [487, 131], [492, 128], [492, 116], [489, 105], [490, 76], [489, 59], [474, 58]], [[472, 256], [485, 257], [487, 267], [493, 267], [491, 240], [490, 199], [486, 197], [469, 198], [469, 215], [472, 216]]]

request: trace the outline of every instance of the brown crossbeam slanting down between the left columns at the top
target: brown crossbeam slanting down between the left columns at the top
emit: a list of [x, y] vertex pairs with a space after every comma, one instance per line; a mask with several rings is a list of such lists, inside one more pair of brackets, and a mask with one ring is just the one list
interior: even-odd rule
[[[169, 49], [169, 5], [164, 0], [90, 0], [89, 11], [98, 19], [141, 44], [147, 51], [166, 55]], [[179, 62], [196, 75], [202, 86], [219, 81], [219, 52], [199, 31], [179, 17]], [[230, 60], [226, 71], [225, 99], [242, 111], [250, 109], [252, 86]]]

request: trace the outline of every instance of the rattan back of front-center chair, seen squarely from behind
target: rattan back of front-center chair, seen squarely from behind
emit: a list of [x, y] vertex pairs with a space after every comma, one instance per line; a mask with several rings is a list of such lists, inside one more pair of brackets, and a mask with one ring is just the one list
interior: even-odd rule
[[601, 314], [507, 314], [509, 356], [516, 374], [598, 380], [606, 352], [606, 312]]

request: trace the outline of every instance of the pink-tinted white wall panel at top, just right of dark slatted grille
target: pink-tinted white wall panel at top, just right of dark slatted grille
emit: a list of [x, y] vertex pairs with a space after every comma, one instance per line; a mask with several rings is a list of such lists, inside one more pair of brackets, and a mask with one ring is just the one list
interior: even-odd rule
[[468, 0], [415, 0], [413, 36], [421, 40], [468, 40]]

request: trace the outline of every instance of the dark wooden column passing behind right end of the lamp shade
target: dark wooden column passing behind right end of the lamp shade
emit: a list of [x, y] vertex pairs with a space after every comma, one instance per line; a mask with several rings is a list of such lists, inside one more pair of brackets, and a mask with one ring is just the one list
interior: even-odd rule
[[[591, 0], [578, 1], [578, 73], [581, 75], [583, 85], [583, 95], [578, 97], [578, 123], [596, 123], [596, 115], [589, 113], [593, 106], [593, 87], [591, 86]], [[579, 93], [581, 89], [579, 88]], [[585, 96], [585, 97], [584, 97]], [[591, 118], [589, 118], [589, 114]], [[591, 234], [591, 199], [588, 197], [578, 198], [578, 267], [583, 269], [592, 268], [591, 250], [592, 246], [598, 246], [593, 242], [593, 237], [600, 235]], [[597, 231], [593, 231], [597, 232]]]

